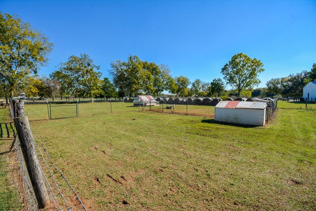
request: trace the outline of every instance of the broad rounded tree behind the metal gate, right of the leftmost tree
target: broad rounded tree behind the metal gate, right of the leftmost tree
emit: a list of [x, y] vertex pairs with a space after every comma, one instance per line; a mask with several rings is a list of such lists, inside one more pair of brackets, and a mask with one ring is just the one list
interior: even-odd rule
[[96, 71], [100, 66], [95, 65], [87, 54], [80, 54], [79, 57], [70, 56], [67, 62], [59, 64], [58, 69], [51, 77], [62, 84], [64, 94], [89, 97], [92, 103], [94, 97], [100, 94], [102, 73]]

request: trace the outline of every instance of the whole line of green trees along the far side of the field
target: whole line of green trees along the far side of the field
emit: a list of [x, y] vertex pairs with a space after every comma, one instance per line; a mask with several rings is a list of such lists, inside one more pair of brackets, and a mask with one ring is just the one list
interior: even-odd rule
[[[256, 58], [237, 53], [221, 69], [223, 79], [211, 82], [188, 77], [172, 76], [165, 64], [141, 61], [129, 55], [125, 61], [117, 60], [110, 65], [112, 81], [104, 77], [100, 66], [87, 54], [72, 55], [61, 62], [49, 76], [38, 75], [40, 67], [47, 64], [53, 44], [28, 23], [9, 14], [0, 13], [0, 96], [6, 100], [25, 92], [30, 98], [56, 97], [129, 98], [139, 94], [161, 96], [167, 91], [175, 97], [300, 97], [303, 87], [316, 78], [316, 64], [311, 71], [272, 78], [265, 88], [260, 84], [259, 74], [263, 64]], [[231, 90], [227, 90], [227, 86]]]

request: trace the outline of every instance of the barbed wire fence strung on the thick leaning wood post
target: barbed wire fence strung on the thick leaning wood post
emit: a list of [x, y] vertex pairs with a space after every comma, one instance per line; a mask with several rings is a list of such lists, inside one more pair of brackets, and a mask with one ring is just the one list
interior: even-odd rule
[[[16, 109], [16, 102], [10, 101], [10, 115], [11, 119], [13, 120], [14, 117], [19, 116], [19, 110]], [[75, 194], [77, 200], [79, 201], [80, 207], [82, 210], [86, 211], [86, 208], [84, 207], [81, 199], [79, 198], [77, 192], [74, 190], [74, 188], [71, 186], [69, 181], [66, 179], [66, 177], [63, 175], [63, 173], [57, 168], [56, 164], [52, 161], [50, 158], [47, 149], [45, 148], [43, 141], [40, 139], [40, 137], [36, 134], [36, 132], [31, 129], [29, 133], [32, 133], [36, 135], [36, 141], [34, 142], [36, 146], [36, 150], [40, 154], [40, 163], [44, 164], [46, 167], [45, 171], [42, 171], [41, 169], [41, 175], [44, 178], [44, 184], [45, 187], [48, 189], [47, 194], [48, 198], [50, 200], [50, 207], [46, 207], [47, 210], [57, 210], [57, 211], [63, 211], [63, 210], [72, 210], [72, 206], [69, 205], [67, 202], [67, 199], [63, 195], [65, 192], [72, 192]], [[27, 211], [38, 211], [39, 210], [39, 204], [37, 202], [36, 194], [34, 192], [30, 176], [28, 174], [28, 170], [26, 168], [25, 159], [22, 153], [21, 144], [19, 141], [19, 138], [17, 134], [14, 132], [14, 141], [12, 143], [12, 147], [15, 145], [16, 155], [17, 155], [17, 162], [19, 166], [19, 180], [21, 183], [21, 193], [23, 197], [24, 207]], [[11, 148], [12, 148], [11, 147]], [[45, 159], [46, 157], [46, 159]], [[46, 160], [49, 160], [47, 162]], [[46, 176], [46, 174], [47, 176]], [[61, 190], [61, 181], [64, 181], [70, 190], [67, 190], [66, 188], [63, 188]]]

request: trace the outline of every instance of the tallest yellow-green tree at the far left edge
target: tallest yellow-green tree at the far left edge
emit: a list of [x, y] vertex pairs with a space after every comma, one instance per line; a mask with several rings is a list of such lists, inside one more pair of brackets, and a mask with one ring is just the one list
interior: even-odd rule
[[53, 44], [30, 24], [7, 13], [0, 13], [0, 32], [0, 83], [7, 103], [27, 76], [47, 63]]

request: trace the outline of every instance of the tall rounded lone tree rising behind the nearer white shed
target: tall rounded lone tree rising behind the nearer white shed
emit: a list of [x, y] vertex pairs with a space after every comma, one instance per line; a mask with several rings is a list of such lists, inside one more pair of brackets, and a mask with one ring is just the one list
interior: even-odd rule
[[263, 72], [263, 64], [256, 58], [251, 59], [238, 53], [222, 68], [221, 73], [228, 84], [237, 89], [238, 97], [243, 89], [251, 89], [261, 81], [258, 74]]

